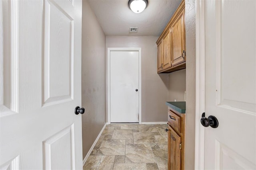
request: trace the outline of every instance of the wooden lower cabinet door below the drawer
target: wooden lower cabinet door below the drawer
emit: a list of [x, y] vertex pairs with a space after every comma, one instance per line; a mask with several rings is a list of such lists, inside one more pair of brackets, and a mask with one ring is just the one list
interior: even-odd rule
[[168, 132], [168, 170], [180, 170], [181, 164], [181, 138], [169, 127]]

